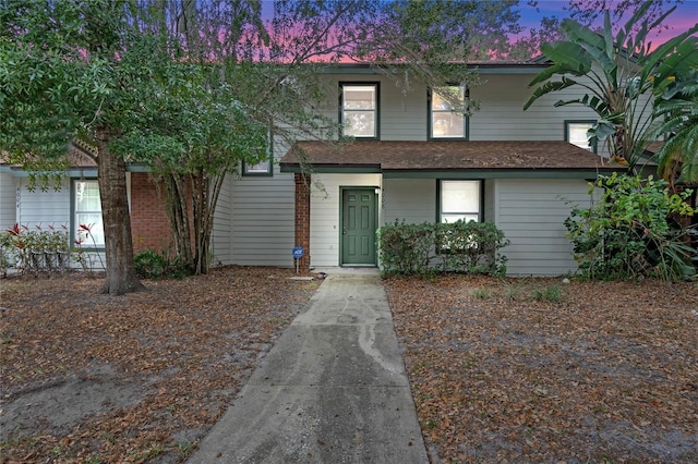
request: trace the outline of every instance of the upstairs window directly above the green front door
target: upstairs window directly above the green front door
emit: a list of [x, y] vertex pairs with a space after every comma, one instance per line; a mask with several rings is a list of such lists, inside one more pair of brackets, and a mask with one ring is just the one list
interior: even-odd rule
[[339, 97], [342, 135], [356, 138], [377, 138], [378, 84], [340, 84]]

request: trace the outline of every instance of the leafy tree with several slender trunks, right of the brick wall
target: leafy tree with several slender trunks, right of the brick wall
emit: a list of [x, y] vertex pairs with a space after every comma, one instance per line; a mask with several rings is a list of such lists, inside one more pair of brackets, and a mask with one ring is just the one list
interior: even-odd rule
[[[116, 138], [112, 147], [152, 168], [165, 193], [177, 259], [198, 274], [208, 271], [224, 180], [241, 162], [254, 163], [266, 156], [267, 126], [253, 118], [227, 83], [225, 61], [234, 50], [224, 50], [216, 37], [189, 30], [205, 30], [213, 21], [197, 23], [193, 7], [184, 5], [189, 10], [180, 11], [173, 25], [165, 21], [168, 11], [159, 10], [157, 25], [142, 32], [139, 44], [124, 51], [133, 54], [127, 61], [143, 61], [134, 65], [133, 74], [142, 74], [144, 84], [135, 91], [148, 105], [124, 109], [123, 119], [134, 130]], [[212, 62], [215, 57], [220, 61]]]

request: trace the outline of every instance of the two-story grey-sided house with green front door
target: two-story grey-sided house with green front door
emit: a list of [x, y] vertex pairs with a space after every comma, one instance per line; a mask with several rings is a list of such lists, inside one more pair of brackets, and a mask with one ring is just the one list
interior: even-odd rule
[[[587, 109], [554, 108], [562, 96], [550, 95], [524, 111], [528, 83], [544, 65], [482, 63], [481, 85], [414, 84], [407, 94], [369, 65], [328, 71], [333, 91], [322, 110], [353, 142], [275, 143], [274, 159], [230, 175], [217, 206], [214, 264], [290, 267], [300, 245], [304, 268], [375, 267], [382, 224], [466, 219], [505, 232], [510, 274], [574, 272], [563, 224], [570, 203], [588, 205], [588, 181], [622, 167], [588, 146], [595, 115]], [[579, 90], [567, 91], [565, 98]], [[444, 98], [447, 93], [452, 97]], [[452, 111], [467, 97], [479, 101], [478, 111]], [[169, 240], [161, 200], [147, 173], [133, 171], [134, 248], [161, 251]], [[88, 199], [96, 192], [94, 167], [71, 170], [59, 192], [29, 192], [25, 175], [0, 170], [2, 228], [62, 223], [75, 235], [81, 221], [98, 220], [98, 202]]]

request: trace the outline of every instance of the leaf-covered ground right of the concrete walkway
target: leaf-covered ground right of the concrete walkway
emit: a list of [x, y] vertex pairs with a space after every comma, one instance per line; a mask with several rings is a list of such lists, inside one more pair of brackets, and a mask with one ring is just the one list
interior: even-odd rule
[[385, 281], [432, 462], [698, 462], [698, 286]]

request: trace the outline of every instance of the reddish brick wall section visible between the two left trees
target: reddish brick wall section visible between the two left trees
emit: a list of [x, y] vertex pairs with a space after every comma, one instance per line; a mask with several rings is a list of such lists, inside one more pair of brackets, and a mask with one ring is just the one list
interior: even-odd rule
[[147, 172], [131, 173], [131, 232], [133, 253], [170, 249], [172, 233], [165, 213], [165, 200], [158, 196]]

